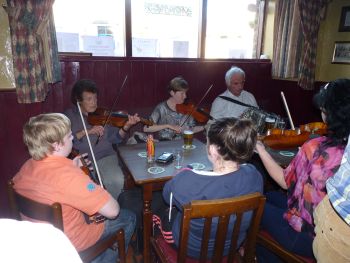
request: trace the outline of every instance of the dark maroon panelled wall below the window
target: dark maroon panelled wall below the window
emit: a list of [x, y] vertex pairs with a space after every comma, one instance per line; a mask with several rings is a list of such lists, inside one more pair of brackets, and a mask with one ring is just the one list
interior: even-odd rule
[[166, 85], [178, 75], [189, 82], [188, 95], [195, 102], [214, 84], [203, 101], [203, 105], [210, 106], [214, 98], [226, 89], [224, 75], [232, 65], [246, 72], [245, 88], [255, 95], [263, 109], [286, 116], [279, 95], [283, 90], [296, 125], [318, 118], [318, 112], [310, 103], [313, 92], [301, 90], [295, 82], [272, 80], [269, 60], [62, 57], [62, 82], [51, 87], [45, 102], [18, 104], [14, 91], [0, 92], [0, 216], [8, 215], [6, 182], [29, 158], [22, 142], [23, 124], [31, 116], [62, 112], [70, 107], [70, 90], [76, 80], [89, 78], [96, 81], [100, 90], [99, 105], [110, 107], [128, 75], [119, 105], [114, 110], [125, 109], [147, 116], [158, 102], [167, 98]]

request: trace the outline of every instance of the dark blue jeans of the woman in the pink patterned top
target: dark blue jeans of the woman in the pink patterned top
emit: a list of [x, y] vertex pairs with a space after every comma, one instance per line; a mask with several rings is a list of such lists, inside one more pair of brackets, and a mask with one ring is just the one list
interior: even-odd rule
[[[282, 192], [266, 193], [266, 204], [261, 219], [261, 228], [284, 248], [305, 257], [313, 257], [313, 238], [309, 233], [297, 232], [283, 218], [287, 210], [287, 196]], [[256, 254], [259, 262], [282, 262], [275, 254], [257, 245]]]

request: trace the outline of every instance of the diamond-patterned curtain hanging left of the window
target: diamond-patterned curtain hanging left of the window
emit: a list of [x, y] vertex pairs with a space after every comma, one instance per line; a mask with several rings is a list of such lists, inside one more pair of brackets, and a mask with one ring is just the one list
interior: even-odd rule
[[54, 0], [8, 0], [12, 55], [19, 103], [44, 101], [48, 83], [61, 79]]

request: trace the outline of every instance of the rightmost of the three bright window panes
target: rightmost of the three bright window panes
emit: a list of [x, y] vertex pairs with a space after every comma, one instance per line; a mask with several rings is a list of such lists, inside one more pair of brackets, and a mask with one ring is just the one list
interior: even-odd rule
[[208, 0], [206, 58], [252, 58], [257, 0]]

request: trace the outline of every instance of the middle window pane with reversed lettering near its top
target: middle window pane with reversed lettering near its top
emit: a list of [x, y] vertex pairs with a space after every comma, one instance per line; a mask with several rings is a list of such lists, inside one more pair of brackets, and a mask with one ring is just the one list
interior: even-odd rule
[[132, 0], [131, 10], [134, 57], [197, 57], [201, 0]]

